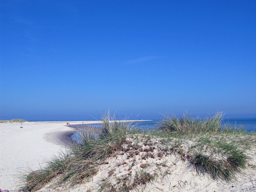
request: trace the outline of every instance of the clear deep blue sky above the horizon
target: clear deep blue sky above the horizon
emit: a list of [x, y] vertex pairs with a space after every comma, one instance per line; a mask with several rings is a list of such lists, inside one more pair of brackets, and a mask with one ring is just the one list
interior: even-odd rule
[[255, 10], [255, 0], [1, 0], [0, 119], [255, 118]]

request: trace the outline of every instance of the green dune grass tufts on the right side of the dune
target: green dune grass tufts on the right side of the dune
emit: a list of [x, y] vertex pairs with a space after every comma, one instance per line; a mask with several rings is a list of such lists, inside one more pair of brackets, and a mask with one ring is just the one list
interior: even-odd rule
[[[159, 122], [162, 134], [186, 144], [188, 166], [213, 180], [230, 181], [246, 168], [248, 153], [256, 141], [254, 133], [222, 123], [223, 113], [206, 118], [183, 114], [180, 118], [166, 115]], [[177, 145], [179, 148], [182, 144]], [[183, 149], [176, 149], [181, 151]], [[184, 155], [184, 156], [185, 156]]]

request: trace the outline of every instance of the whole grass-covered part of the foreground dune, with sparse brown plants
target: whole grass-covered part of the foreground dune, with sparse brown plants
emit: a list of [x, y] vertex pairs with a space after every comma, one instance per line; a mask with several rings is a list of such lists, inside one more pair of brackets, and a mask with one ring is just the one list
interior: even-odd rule
[[250, 165], [248, 153], [256, 136], [221, 120], [222, 113], [208, 118], [166, 115], [158, 129], [142, 132], [107, 113], [99, 134], [81, 131], [80, 143], [53, 157], [44, 169], [24, 174], [20, 191], [36, 191], [48, 183], [73, 187], [90, 183], [97, 174], [101, 182], [88, 191], [143, 191], [170, 179], [179, 162], [212, 180], [231, 181]]

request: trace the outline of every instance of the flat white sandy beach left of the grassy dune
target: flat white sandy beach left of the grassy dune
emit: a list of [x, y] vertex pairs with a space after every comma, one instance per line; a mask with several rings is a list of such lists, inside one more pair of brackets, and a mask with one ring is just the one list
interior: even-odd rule
[[[86, 121], [85, 123], [91, 123]], [[95, 122], [94, 122], [95, 123]], [[71, 125], [82, 122], [70, 122]], [[27, 167], [38, 170], [52, 155], [65, 151], [67, 122], [0, 123], [0, 188], [15, 190], [17, 174]]]

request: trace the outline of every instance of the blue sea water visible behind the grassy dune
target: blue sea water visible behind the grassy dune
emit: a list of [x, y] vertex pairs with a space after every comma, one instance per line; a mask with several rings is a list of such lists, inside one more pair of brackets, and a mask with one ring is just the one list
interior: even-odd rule
[[[145, 130], [154, 130], [157, 128], [159, 120], [148, 120], [148, 121], [136, 121], [134, 122], [134, 128], [141, 129], [142, 131]], [[243, 128], [247, 132], [255, 132], [256, 133], [256, 118], [230, 118], [230, 119], [223, 119], [223, 125], [232, 126], [234, 129]], [[92, 128], [99, 128], [100, 124], [91, 124], [89, 125]], [[73, 125], [72, 127], [78, 128], [79, 130], [83, 130], [84, 125]], [[71, 138], [75, 141], [79, 141], [81, 136], [78, 133], [73, 134]]]

